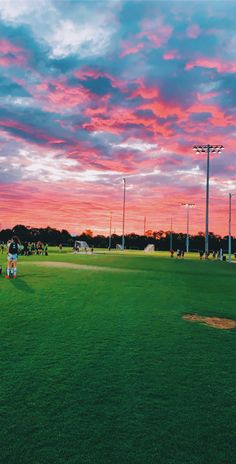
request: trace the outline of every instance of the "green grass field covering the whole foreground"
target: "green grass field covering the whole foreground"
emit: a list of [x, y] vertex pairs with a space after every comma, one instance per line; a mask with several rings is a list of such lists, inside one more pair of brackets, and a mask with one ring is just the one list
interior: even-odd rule
[[0, 276], [2, 464], [235, 463], [236, 330], [182, 319], [236, 319], [235, 265], [51, 252], [18, 271]]

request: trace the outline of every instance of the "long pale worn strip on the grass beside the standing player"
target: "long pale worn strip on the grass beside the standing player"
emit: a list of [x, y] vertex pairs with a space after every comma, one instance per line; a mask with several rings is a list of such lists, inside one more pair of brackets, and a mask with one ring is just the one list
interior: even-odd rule
[[87, 271], [103, 271], [103, 272], [140, 272], [135, 269], [119, 269], [116, 267], [89, 266], [87, 264], [66, 263], [62, 261], [23, 261], [21, 264], [32, 264], [34, 266], [55, 267], [66, 269], [78, 269]]

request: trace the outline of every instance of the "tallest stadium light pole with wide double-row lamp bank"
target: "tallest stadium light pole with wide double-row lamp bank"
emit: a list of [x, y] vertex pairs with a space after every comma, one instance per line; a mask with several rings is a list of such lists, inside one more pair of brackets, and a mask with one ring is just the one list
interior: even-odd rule
[[210, 154], [221, 153], [223, 145], [194, 145], [196, 153], [207, 153], [207, 175], [206, 175], [206, 225], [205, 225], [205, 253], [209, 252], [209, 177], [210, 177]]

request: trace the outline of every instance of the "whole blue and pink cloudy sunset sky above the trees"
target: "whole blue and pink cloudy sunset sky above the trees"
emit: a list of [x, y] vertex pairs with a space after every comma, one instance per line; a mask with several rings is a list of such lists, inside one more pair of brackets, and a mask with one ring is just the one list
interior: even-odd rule
[[[234, 1], [0, 0], [0, 229], [205, 228], [236, 193]], [[235, 205], [234, 205], [235, 204]], [[235, 214], [234, 214], [235, 212]], [[234, 220], [235, 216], [235, 220]], [[236, 197], [233, 201], [236, 233]]]

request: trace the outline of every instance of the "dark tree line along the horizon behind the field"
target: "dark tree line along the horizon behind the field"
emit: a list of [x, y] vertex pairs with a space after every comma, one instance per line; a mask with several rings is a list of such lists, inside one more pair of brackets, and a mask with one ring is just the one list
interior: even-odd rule
[[[2, 229], [0, 231], [0, 241], [6, 243], [13, 235], [17, 235], [22, 243], [38, 242], [47, 243], [48, 245], [59, 245], [73, 247], [75, 240], [86, 241], [89, 246], [95, 248], [108, 248], [109, 236], [94, 235], [90, 229], [85, 230], [80, 235], [71, 235], [67, 230], [58, 230], [52, 227], [37, 228], [18, 224], [12, 229]], [[116, 245], [121, 244], [122, 236], [112, 234], [111, 248], [116, 248]], [[170, 250], [171, 244], [174, 250], [185, 249], [186, 234], [182, 232], [171, 231], [146, 231], [145, 235], [130, 233], [125, 235], [125, 248], [134, 250], [143, 250], [147, 245], [155, 245], [156, 250]], [[189, 236], [190, 251], [204, 250], [205, 236], [203, 232], [198, 232], [196, 235]], [[236, 240], [232, 238], [232, 250], [236, 248]], [[209, 249], [219, 250], [222, 248], [227, 251], [228, 236], [216, 235], [213, 232], [209, 233]]]

